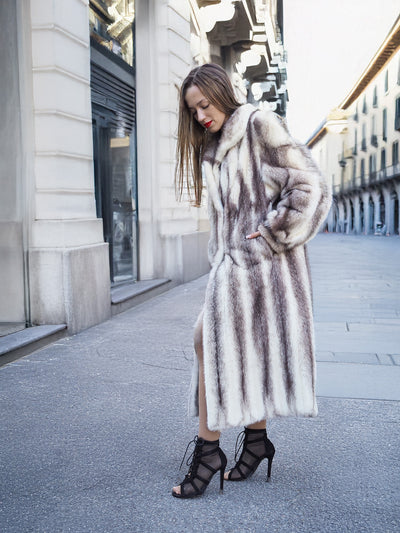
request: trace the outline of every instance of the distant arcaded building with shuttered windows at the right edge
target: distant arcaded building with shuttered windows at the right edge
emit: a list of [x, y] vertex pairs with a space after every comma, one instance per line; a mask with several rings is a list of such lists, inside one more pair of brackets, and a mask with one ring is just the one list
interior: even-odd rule
[[398, 235], [400, 17], [343, 102], [308, 141], [331, 179], [328, 230]]

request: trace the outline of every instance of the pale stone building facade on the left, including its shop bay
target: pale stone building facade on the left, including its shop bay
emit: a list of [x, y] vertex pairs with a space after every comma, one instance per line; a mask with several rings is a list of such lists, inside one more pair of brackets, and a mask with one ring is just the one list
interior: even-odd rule
[[3, 4], [0, 333], [74, 333], [206, 273], [205, 209], [175, 198], [178, 88], [214, 61], [284, 115], [282, 1]]

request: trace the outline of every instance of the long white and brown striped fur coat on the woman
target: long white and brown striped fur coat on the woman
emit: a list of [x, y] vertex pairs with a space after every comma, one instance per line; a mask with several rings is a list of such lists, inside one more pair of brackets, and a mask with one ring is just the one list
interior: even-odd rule
[[[271, 111], [238, 108], [207, 144], [211, 271], [203, 321], [211, 430], [274, 416], [315, 416], [310, 271], [305, 242], [330, 189]], [[260, 231], [261, 236], [246, 239]], [[198, 365], [191, 414], [198, 415]]]

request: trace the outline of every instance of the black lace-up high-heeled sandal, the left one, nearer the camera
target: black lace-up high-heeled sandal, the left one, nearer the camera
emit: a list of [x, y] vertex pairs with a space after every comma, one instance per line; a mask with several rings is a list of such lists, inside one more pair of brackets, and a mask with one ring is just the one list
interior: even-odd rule
[[219, 488], [220, 493], [222, 493], [224, 490], [224, 473], [227, 459], [219, 447], [219, 440], [208, 441], [196, 435], [187, 445], [180, 468], [192, 443], [195, 444], [195, 448], [186, 461], [186, 464], [189, 466], [189, 472], [179, 485], [181, 487], [180, 494], [172, 491], [172, 496], [175, 498], [195, 498], [196, 496], [200, 496], [206, 490], [214, 474], [218, 471], [220, 472]]

